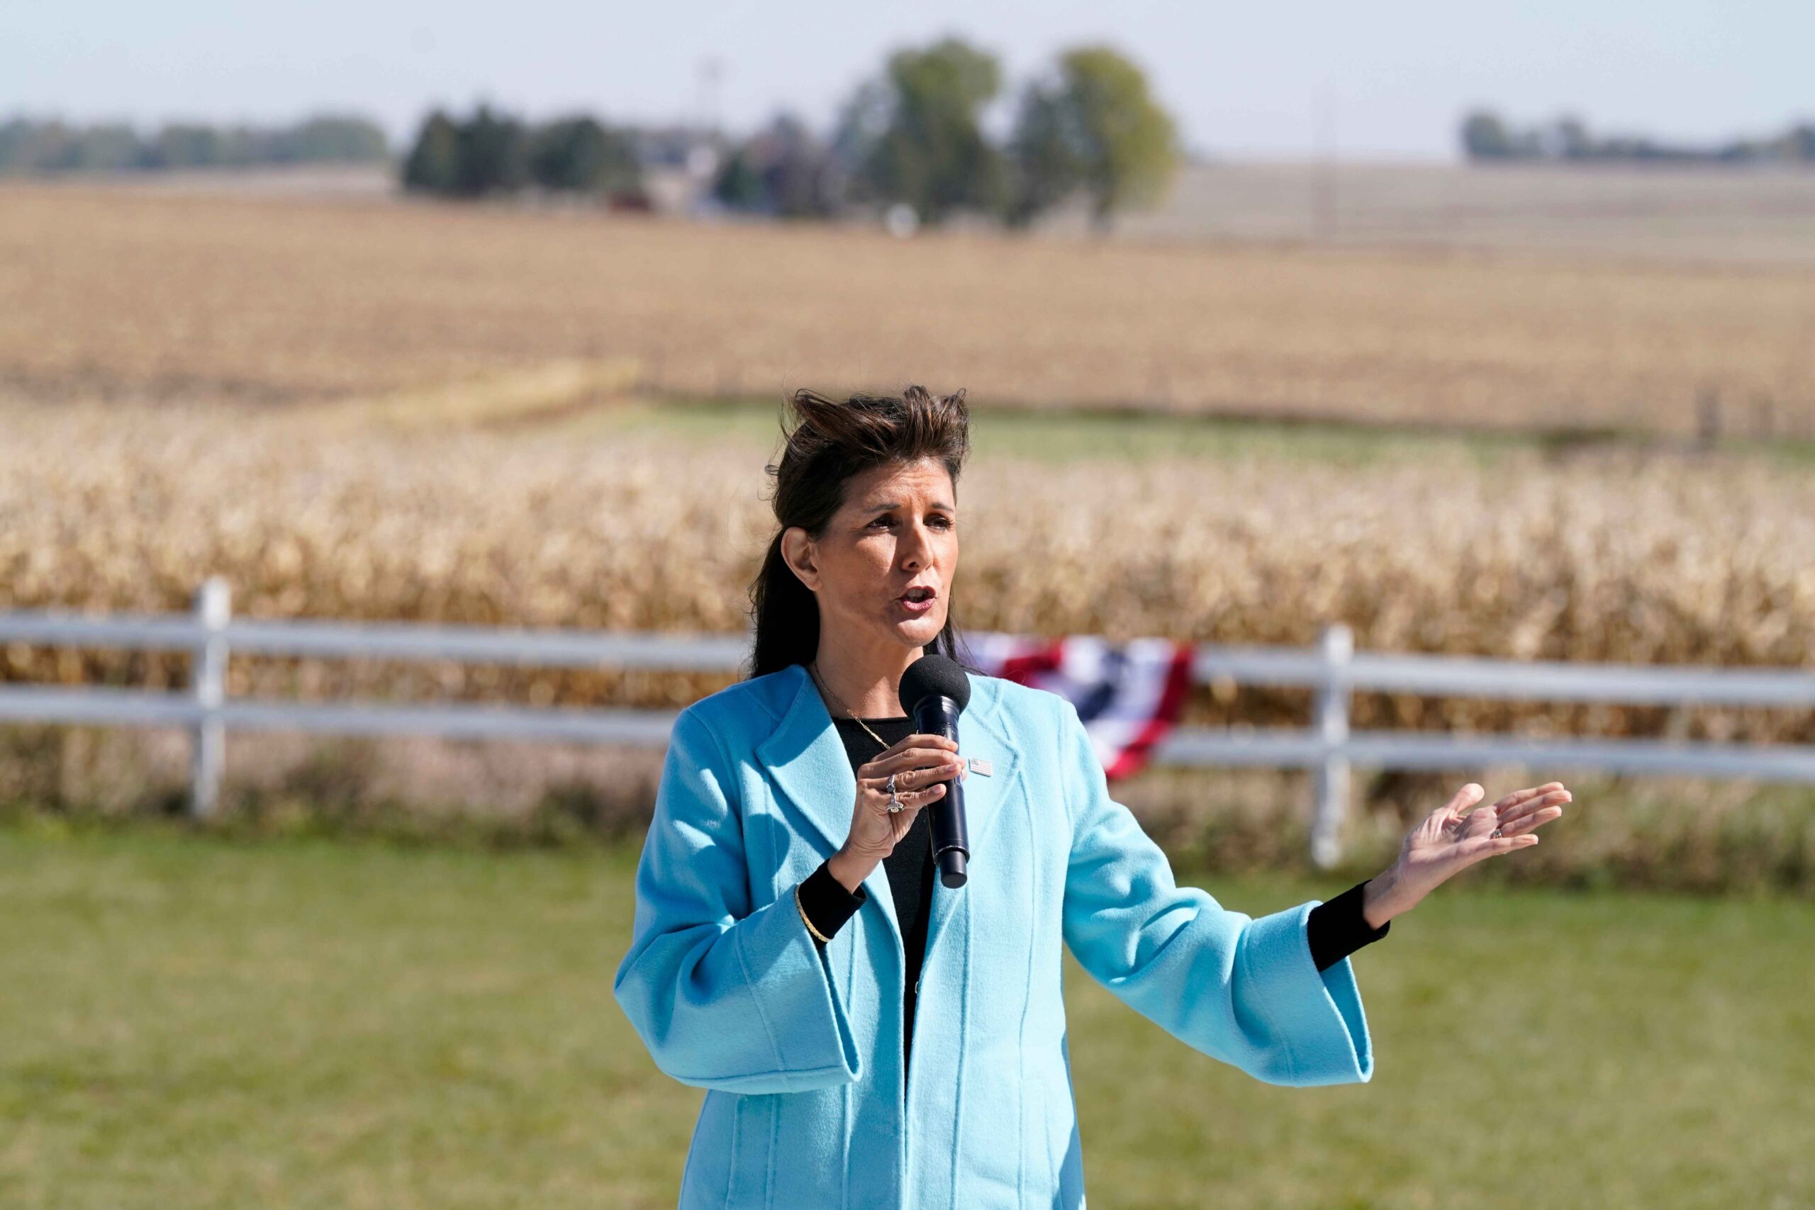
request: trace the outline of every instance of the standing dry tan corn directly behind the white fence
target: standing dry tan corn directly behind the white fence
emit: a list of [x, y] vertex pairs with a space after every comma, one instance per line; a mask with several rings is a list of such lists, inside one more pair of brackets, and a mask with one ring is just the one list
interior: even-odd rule
[[[773, 448], [586, 417], [423, 426], [245, 405], [0, 408], [0, 608], [737, 631]], [[584, 421], [584, 423], [581, 423]], [[1080, 484], [1091, 484], [1080, 492]], [[1759, 457], [1535, 450], [975, 459], [960, 626], [1372, 649], [1815, 666], [1815, 481]], [[7, 649], [13, 680], [180, 684], [187, 659]], [[710, 678], [236, 659], [232, 693], [673, 704]], [[1205, 688], [1194, 720], [1285, 722]], [[1815, 738], [1804, 713], [1372, 697], [1359, 726]]]

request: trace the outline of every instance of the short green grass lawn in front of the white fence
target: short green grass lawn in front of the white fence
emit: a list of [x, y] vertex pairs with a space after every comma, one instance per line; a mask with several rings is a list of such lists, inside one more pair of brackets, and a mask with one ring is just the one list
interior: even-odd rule
[[[612, 1000], [635, 849], [0, 831], [0, 1206], [672, 1206], [701, 1090]], [[1192, 878], [1265, 912], [1339, 885]], [[1815, 905], [1463, 874], [1274, 1088], [1067, 956], [1091, 1205], [1806, 1206]]]

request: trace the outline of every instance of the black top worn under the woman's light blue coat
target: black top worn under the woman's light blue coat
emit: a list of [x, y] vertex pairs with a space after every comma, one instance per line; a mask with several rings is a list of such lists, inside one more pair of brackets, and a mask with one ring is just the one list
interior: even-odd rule
[[[869, 724], [869, 731], [875, 731], [889, 746], [915, 733], [913, 718], [906, 717], [864, 718], [864, 722]], [[864, 731], [855, 718], [833, 718], [833, 724], [839, 727], [839, 738], [844, 740], [844, 751], [851, 758], [853, 771], [882, 751], [875, 737]], [[908, 951], [908, 978], [902, 983], [904, 1072], [913, 1050], [913, 1010], [920, 990], [920, 960], [926, 956], [926, 925], [933, 914], [933, 873], [937, 862], [933, 860], [931, 829], [933, 818], [922, 809], [915, 816], [908, 834], [895, 845], [895, 851], [882, 858], [882, 869], [888, 871], [889, 878], [889, 893], [895, 896], [895, 916], [902, 925], [902, 943]], [[1379, 929], [1369, 929], [1367, 918], [1361, 914], [1361, 889], [1365, 885], [1365, 880], [1358, 882], [1334, 900], [1310, 909], [1305, 932], [1310, 942], [1310, 958], [1318, 963], [1318, 971], [1336, 965], [1363, 945], [1387, 936], [1387, 931], [1392, 929], [1390, 920]], [[806, 911], [808, 920], [813, 922], [813, 927], [826, 936], [837, 934], [844, 927], [844, 922], [868, 900], [869, 893], [864, 887], [857, 887], [857, 894], [846, 891], [831, 876], [824, 862], [800, 883], [800, 907]], [[817, 938], [815, 943], [819, 943]]]

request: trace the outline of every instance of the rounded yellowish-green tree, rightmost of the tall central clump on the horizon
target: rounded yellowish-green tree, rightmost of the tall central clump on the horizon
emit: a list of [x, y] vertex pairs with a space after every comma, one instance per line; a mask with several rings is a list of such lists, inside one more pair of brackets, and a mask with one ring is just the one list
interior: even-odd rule
[[1022, 94], [1009, 158], [1011, 223], [1027, 223], [1084, 189], [1093, 223], [1107, 229], [1116, 212], [1158, 201], [1183, 154], [1147, 73], [1113, 47], [1084, 45], [1065, 51], [1053, 76]]

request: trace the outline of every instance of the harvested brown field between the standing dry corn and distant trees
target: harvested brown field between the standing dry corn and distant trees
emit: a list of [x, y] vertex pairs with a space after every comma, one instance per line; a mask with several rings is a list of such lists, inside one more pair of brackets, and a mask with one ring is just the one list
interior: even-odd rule
[[0, 385], [323, 401], [630, 359], [643, 388], [1815, 434], [1815, 270], [1229, 241], [895, 241], [0, 187]]

